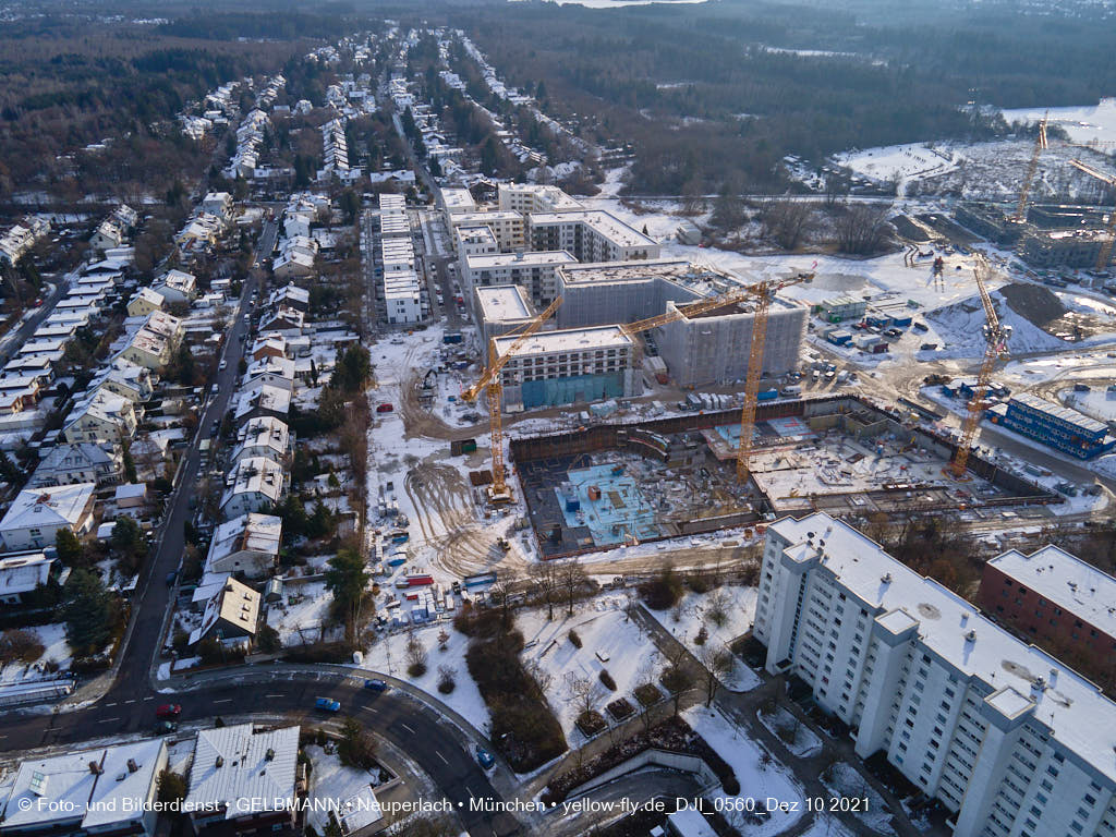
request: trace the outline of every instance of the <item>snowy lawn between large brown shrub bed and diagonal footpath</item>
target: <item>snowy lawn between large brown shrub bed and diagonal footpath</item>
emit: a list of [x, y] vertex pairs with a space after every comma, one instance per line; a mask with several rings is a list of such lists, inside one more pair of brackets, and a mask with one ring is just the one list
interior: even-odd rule
[[[566, 616], [564, 608], [555, 608], [555, 620], [547, 620], [546, 608], [521, 610], [516, 623], [530, 647], [521, 657], [525, 663], [537, 663], [540, 671], [551, 679], [547, 690], [550, 706], [566, 732], [571, 745], [577, 747], [584, 735], [574, 725], [580, 711], [573, 692], [574, 679], [587, 679], [594, 684], [595, 709], [608, 721], [605, 706], [618, 698], [626, 698], [638, 708], [633, 695], [643, 683], [657, 683], [662, 655], [639, 626], [625, 617], [626, 599], [608, 596], [593, 599], [589, 608]], [[581, 639], [578, 648], [569, 641], [576, 631]], [[600, 672], [607, 671], [616, 681], [616, 691], [600, 682]], [[665, 698], [666, 693], [663, 692]]]

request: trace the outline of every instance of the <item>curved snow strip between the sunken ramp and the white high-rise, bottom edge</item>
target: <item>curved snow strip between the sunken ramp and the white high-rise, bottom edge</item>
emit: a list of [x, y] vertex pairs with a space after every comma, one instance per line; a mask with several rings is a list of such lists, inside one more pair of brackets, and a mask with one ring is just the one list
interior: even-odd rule
[[724, 791], [706, 795], [720, 796], [727, 800], [728, 804], [723, 812], [725, 819], [733, 827], [742, 834], [769, 837], [782, 834], [801, 818], [805, 807], [801, 787], [779, 762], [771, 759], [768, 764], [764, 764], [763, 753], [766, 751], [734, 727], [720, 711], [695, 706], [684, 712], [683, 718], [699, 735], [705, 739], [710, 747], [716, 750], [722, 759], [729, 762], [740, 781], [741, 797], [754, 799], [760, 810], [763, 809], [769, 797], [783, 804], [797, 802], [797, 805], [787, 805], [793, 810], [773, 810], [763, 825], [756, 826], [744, 821], [743, 811], [733, 810], [735, 799], [729, 797]]

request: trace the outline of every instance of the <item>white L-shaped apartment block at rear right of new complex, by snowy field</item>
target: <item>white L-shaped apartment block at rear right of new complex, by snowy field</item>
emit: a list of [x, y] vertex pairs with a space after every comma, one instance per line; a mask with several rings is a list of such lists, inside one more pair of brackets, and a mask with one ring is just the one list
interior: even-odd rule
[[657, 259], [658, 243], [604, 210], [536, 212], [527, 218], [535, 250], [566, 250], [578, 261]]

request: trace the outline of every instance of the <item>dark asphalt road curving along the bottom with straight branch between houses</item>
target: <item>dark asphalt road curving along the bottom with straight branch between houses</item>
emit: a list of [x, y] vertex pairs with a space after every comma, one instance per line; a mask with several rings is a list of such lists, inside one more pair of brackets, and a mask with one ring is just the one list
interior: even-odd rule
[[[264, 224], [258, 257], [271, 252], [277, 227], [270, 221]], [[471, 809], [474, 798], [499, 800], [501, 797], [473, 760], [463, 733], [403, 692], [374, 692], [352, 679], [341, 681], [329, 674], [276, 671], [272, 675], [253, 666], [241, 670], [243, 680], [237, 677], [231, 682], [227, 672], [195, 675], [173, 694], [156, 693], [153, 686], [152, 670], [158, 662], [164, 624], [175, 595], [175, 588], [169, 587], [165, 579], [182, 561], [184, 526], [191, 514], [190, 501], [201, 466], [199, 444], [210, 436], [212, 423], [220, 421], [229, 407], [246, 345], [241, 341], [248, 330], [244, 314], [257, 287], [262, 297], [262, 278], [261, 270], [253, 270], [244, 281], [222, 349], [227, 364], [217, 375], [218, 393], [199, 405], [198, 432], [185, 449], [185, 459], [167, 502], [167, 514], [156, 533], [151, 560], [138, 585], [135, 610], [110, 685], [103, 696], [74, 711], [27, 714], [17, 710], [0, 714], [0, 749], [16, 752], [106, 735], [151, 733], [156, 723], [155, 709], [166, 702], [182, 705], [181, 721], [209, 721], [219, 715], [282, 714], [290, 716], [292, 722], [320, 723], [337, 719], [312, 709], [315, 698], [328, 696], [341, 703], [340, 714], [359, 719], [413, 759], [458, 807], [462, 825], [471, 835], [504, 837], [519, 834], [521, 826], [513, 817]]]

